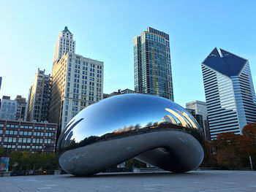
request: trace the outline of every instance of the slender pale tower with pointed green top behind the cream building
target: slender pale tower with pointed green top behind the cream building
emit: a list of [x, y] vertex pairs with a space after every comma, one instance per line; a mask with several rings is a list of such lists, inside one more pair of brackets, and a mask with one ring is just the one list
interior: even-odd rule
[[75, 41], [73, 34], [69, 31], [67, 26], [59, 34], [58, 40], [54, 46], [53, 65], [59, 61], [64, 53], [75, 53]]

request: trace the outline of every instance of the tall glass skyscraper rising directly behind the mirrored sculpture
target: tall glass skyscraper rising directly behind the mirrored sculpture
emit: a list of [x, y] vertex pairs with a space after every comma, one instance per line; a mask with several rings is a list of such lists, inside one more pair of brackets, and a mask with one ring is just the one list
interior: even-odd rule
[[135, 91], [173, 101], [169, 35], [148, 27], [133, 39]]

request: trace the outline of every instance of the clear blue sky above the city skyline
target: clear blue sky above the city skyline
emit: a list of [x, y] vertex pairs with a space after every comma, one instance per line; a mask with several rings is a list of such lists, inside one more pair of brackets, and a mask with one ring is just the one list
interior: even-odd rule
[[174, 99], [205, 101], [200, 64], [221, 47], [249, 59], [256, 84], [256, 1], [1, 1], [0, 96], [27, 98], [37, 68], [51, 73], [68, 26], [76, 53], [104, 61], [104, 93], [134, 88], [133, 37], [148, 26], [170, 35]]

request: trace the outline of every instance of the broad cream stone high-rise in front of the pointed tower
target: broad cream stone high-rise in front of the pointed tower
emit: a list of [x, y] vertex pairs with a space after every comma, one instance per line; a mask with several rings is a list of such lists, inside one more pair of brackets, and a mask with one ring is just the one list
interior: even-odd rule
[[53, 66], [49, 122], [64, 128], [83, 108], [103, 99], [103, 62], [65, 53]]

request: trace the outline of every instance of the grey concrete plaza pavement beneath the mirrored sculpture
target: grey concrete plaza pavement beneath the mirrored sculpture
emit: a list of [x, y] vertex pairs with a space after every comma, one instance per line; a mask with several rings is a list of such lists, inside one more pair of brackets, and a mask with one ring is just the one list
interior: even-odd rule
[[193, 171], [184, 174], [119, 173], [91, 177], [35, 175], [0, 177], [0, 191], [256, 191], [256, 172]]

